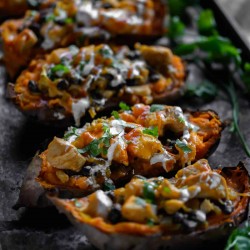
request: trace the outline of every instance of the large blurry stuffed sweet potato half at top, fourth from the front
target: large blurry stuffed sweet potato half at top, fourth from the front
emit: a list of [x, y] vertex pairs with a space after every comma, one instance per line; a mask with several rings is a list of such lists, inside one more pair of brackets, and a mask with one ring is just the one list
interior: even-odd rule
[[29, 10], [1, 27], [7, 71], [14, 77], [35, 55], [70, 44], [157, 37], [164, 33], [165, 15], [161, 0], [59, 0], [47, 9]]

